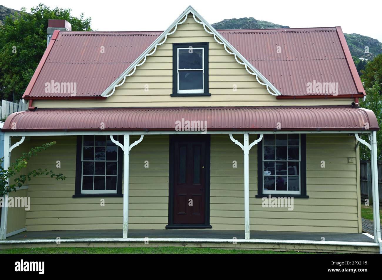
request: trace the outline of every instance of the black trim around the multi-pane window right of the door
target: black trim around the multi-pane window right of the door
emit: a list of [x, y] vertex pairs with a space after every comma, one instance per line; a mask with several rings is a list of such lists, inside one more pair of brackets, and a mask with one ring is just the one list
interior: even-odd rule
[[257, 195], [256, 198], [263, 197], [293, 197], [293, 198], [309, 198], [306, 195], [306, 134], [300, 134], [300, 153], [301, 153], [301, 161], [300, 161], [300, 194], [299, 195], [291, 195], [288, 193], [273, 193], [273, 194], [263, 194], [263, 174], [262, 174], [262, 145], [263, 140], [257, 143]]

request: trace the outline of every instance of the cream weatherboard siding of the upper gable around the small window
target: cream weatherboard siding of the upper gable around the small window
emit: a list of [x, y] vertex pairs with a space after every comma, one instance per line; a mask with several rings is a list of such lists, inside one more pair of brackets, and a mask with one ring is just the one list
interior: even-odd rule
[[[209, 43], [209, 93], [202, 97], [171, 97], [172, 43]], [[233, 88], [236, 85], [236, 91]], [[148, 90], [145, 91], [145, 88]], [[93, 107], [178, 107], [178, 106], [311, 106], [350, 105], [351, 98], [277, 99], [264, 85], [236, 62], [223, 45], [189, 15], [185, 23], [167, 37], [157, 51], [147, 57], [136, 72], [126, 78], [106, 100], [36, 100], [38, 108]]]

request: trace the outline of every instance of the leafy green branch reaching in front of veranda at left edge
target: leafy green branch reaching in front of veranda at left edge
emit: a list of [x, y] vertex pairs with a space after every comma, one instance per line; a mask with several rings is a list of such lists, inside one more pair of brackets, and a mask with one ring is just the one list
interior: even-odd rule
[[[0, 197], [10, 193], [11, 191], [16, 190], [17, 187], [23, 186], [23, 184], [28, 180], [31, 180], [32, 177], [40, 176], [40, 175], [50, 175], [50, 178], [55, 178], [56, 180], [65, 180], [65, 176], [63, 174], [55, 174], [52, 170], [48, 171], [46, 168], [44, 170], [37, 169], [33, 171], [27, 172], [27, 174], [19, 174], [23, 168], [28, 166], [28, 161], [32, 156], [36, 156], [36, 154], [40, 151], [47, 150], [48, 148], [55, 145], [56, 142], [46, 143], [42, 146], [31, 148], [28, 153], [23, 153], [23, 155], [16, 159], [15, 163], [12, 163], [8, 169], [3, 169], [0, 167]], [[3, 162], [4, 158], [0, 159], [0, 165]], [[16, 177], [18, 176], [18, 177]], [[16, 177], [16, 178], [15, 178]], [[10, 182], [8, 184], [8, 180], [11, 178], [15, 178], [14, 182]]]

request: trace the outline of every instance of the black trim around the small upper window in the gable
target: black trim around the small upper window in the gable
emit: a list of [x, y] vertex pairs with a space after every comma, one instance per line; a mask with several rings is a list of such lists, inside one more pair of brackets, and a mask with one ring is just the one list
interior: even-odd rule
[[[204, 93], [178, 93], [178, 48], [204, 48]], [[172, 94], [170, 96], [211, 96], [208, 87], [209, 43], [172, 43]]]

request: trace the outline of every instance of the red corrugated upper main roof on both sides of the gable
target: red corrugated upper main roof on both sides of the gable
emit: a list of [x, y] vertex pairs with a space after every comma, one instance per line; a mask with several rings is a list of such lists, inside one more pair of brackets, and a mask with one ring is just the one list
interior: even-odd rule
[[[338, 82], [340, 97], [364, 92], [358, 74], [354, 74], [353, 60], [345, 55], [347, 45], [340, 40], [343, 34], [339, 28], [219, 32], [285, 97], [322, 95], [306, 93], [306, 84], [313, 80]], [[99, 97], [161, 33], [60, 32], [24, 98], [70, 97], [70, 93], [45, 93], [45, 83], [51, 80], [76, 82], [77, 98]], [[277, 47], [281, 47], [280, 53]]]

